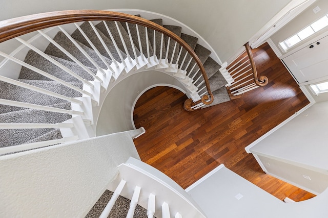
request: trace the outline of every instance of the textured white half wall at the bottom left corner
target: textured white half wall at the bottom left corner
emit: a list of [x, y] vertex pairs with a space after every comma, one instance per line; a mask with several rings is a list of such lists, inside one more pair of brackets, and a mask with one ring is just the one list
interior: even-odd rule
[[1, 156], [0, 217], [84, 217], [130, 156], [129, 132]]

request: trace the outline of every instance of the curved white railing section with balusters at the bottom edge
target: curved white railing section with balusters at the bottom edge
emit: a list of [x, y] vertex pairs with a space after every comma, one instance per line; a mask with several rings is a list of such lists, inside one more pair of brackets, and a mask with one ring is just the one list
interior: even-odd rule
[[129, 158], [118, 169], [117, 179], [108, 187], [114, 193], [100, 217], [108, 217], [118, 196], [131, 200], [127, 217], [133, 217], [137, 204], [147, 209], [148, 218], [205, 217], [185, 190], [152, 166]]

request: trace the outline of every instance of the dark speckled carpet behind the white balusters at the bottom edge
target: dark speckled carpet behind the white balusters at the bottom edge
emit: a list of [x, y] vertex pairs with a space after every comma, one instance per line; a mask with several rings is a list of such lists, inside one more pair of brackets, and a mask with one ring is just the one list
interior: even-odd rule
[[[91, 208], [85, 218], [99, 217], [101, 212], [105, 209], [107, 203], [113, 195], [112, 191], [106, 190], [103, 195], [98, 199], [95, 205]], [[130, 200], [122, 196], [119, 196], [116, 200], [113, 209], [111, 210], [108, 217], [110, 218], [121, 218], [126, 217], [129, 211]], [[134, 211], [134, 218], [147, 218], [147, 210], [139, 205], [136, 206]]]

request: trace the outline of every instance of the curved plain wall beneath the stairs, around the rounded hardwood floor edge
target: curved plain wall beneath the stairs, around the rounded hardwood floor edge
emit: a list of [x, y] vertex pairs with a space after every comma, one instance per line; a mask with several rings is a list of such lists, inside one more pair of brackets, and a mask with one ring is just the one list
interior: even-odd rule
[[96, 126], [96, 136], [134, 129], [132, 113], [136, 100], [151, 87], [166, 85], [186, 93], [172, 76], [155, 70], [133, 74], [119, 82], [106, 96]]

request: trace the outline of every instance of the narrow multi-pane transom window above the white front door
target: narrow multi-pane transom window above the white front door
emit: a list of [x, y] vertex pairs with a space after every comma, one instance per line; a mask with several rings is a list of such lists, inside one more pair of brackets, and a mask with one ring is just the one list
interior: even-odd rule
[[305, 27], [297, 34], [289, 37], [288, 39], [282, 42], [279, 42], [279, 45], [281, 49], [283, 49], [286, 52], [300, 41], [308, 38], [309, 36], [313, 35], [314, 33], [318, 32], [319, 30], [322, 30], [327, 26], [328, 26], [328, 14], [314, 21], [313, 23], [311, 23], [311, 25]]

